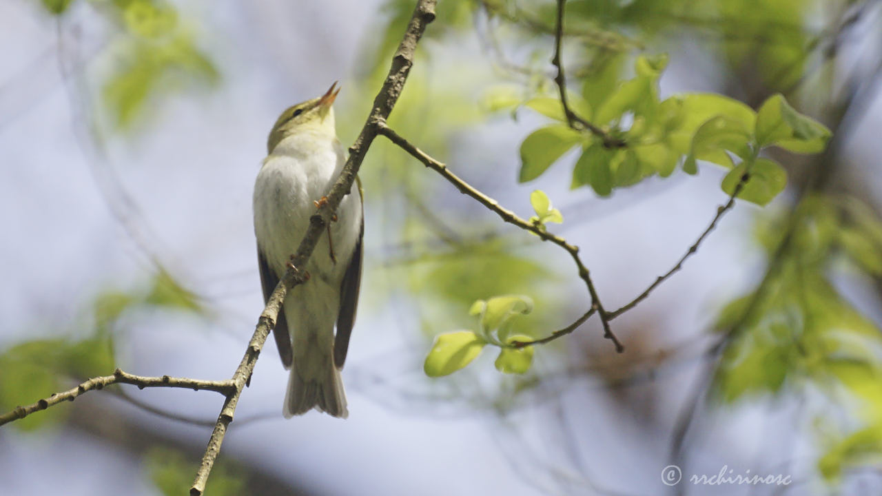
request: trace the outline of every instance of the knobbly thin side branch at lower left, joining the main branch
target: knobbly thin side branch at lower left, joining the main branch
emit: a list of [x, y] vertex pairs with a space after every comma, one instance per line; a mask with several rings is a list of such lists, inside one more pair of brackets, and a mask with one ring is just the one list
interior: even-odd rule
[[168, 377], [168, 375], [163, 375], [162, 377], [142, 377], [116, 369], [116, 371], [113, 372], [113, 375], [95, 377], [86, 380], [85, 382], [80, 383], [79, 386], [68, 389], [63, 393], [54, 393], [38, 402], [34, 402], [24, 407], [16, 407], [15, 410], [0, 416], [0, 425], [8, 424], [13, 420], [19, 420], [19, 418], [27, 417], [35, 411], [46, 410], [60, 402], [72, 402], [76, 400], [79, 395], [83, 395], [87, 391], [103, 389], [111, 384], [132, 384], [138, 386], [140, 389], [144, 389], [145, 387], [181, 387], [183, 389], [192, 389], [194, 391], [205, 389], [207, 391], [221, 393], [221, 395], [230, 394], [234, 387], [232, 380], [196, 380]]

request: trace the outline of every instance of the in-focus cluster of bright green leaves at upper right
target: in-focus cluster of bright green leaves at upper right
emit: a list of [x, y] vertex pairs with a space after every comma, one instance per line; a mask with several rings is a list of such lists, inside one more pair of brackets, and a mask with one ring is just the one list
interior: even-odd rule
[[[557, 123], [539, 128], [521, 143], [519, 182], [542, 176], [579, 147], [572, 188], [591, 186], [598, 195], [608, 196], [647, 177], [669, 177], [677, 168], [696, 174], [698, 162], [705, 161], [729, 169], [721, 184], [728, 194], [749, 171], [737, 197], [765, 205], [784, 189], [787, 174], [777, 162], [759, 158], [763, 148], [813, 154], [826, 147], [829, 130], [796, 112], [781, 94], [767, 99], [756, 112], [721, 94], [677, 94], [660, 100], [658, 79], [666, 65], [666, 56], [639, 56], [634, 78], [615, 81], [615, 71], [598, 72], [585, 79], [580, 97], [568, 97], [577, 115], [623, 139], [625, 147], [609, 147], [602, 137], [574, 129], [554, 97], [524, 101], [523, 106]], [[498, 95], [489, 100], [497, 108], [505, 102]]]

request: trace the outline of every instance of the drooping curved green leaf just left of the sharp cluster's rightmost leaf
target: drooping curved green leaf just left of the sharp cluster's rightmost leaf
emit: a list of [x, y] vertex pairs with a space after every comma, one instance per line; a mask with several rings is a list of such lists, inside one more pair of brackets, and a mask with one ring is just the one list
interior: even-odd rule
[[741, 121], [728, 116], [711, 117], [692, 137], [690, 153], [686, 157], [688, 168], [684, 165], [684, 170], [689, 174], [697, 172], [694, 165], [697, 160], [732, 167], [732, 159], [726, 150], [746, 159], [751, 156], [750, 140], [751, 134]]

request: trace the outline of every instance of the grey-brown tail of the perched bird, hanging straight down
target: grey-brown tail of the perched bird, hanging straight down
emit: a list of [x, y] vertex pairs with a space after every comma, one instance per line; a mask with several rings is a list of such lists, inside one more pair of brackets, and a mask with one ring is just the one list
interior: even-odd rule
[[333, 353], [322, 353], [318, 346], [306, 348], [306, 353], [295, 350], [282, 409], [285, 418], [303, 415], [313, 408], [332, 417], [346, 418], [346, 391], [340, 370], [333, 364]]

